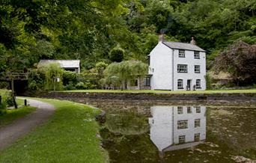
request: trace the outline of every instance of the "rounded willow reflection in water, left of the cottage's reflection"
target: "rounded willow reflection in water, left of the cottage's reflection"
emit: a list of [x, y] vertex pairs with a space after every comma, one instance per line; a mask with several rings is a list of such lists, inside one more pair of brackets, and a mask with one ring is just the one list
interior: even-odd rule
[[147, 117], [135, 111], [119, 111], [118, 114], [106, 114], [106, 127], [110, 132], [121, 135], [141, 135], [148, 132]]

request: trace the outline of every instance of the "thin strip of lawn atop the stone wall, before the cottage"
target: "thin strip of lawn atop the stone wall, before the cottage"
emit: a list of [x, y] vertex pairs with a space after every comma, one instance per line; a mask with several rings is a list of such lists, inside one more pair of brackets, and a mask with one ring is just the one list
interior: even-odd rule
[[256, 89], [249, 90], [195, 90], [195, 91], [169, 91], [169, 90], [63, 90], [60, 92], [88, 92], [88, 93], [256, 93]]

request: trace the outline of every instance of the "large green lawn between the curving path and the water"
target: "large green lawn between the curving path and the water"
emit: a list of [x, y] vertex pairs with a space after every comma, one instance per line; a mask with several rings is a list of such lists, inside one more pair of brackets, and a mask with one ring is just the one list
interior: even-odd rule
[[0, 162], [108, 162], [97, 138], [100, 110], [75, 102], [40, 99], [55, 105], [52, 118], [1, 151]]

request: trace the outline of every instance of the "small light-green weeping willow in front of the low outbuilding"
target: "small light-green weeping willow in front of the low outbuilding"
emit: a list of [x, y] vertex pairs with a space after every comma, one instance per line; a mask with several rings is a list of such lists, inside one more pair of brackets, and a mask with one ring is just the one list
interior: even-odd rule
[[62, 89], [63, 70], [61, 69], [60, 64], [57, 64], [57, 63], [44, 64], [42, 67], [40, 67], [40, 71], [45, 76], [45, 81], [44, 81], [45, 90], [61, 90]]

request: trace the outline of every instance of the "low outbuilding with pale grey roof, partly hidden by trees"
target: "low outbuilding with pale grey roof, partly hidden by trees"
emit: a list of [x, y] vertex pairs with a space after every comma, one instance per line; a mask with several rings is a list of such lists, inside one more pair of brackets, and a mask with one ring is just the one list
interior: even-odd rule
[[49, 63], [57, 63], [64, 70], [80, 73], [80, 60], [40, 60], [38, 66]]

